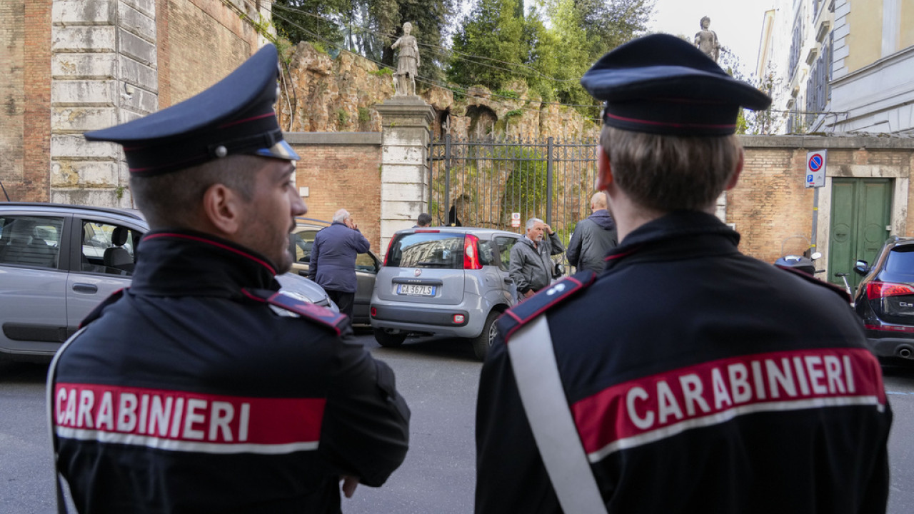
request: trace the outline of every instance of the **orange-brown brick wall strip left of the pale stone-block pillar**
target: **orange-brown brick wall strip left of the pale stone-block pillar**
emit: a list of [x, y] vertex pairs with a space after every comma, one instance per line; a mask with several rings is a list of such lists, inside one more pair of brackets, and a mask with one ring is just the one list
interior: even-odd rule
[[0, 181], [12, 200], [48, 201], [50, 17], [49, 2], [0, 3]]

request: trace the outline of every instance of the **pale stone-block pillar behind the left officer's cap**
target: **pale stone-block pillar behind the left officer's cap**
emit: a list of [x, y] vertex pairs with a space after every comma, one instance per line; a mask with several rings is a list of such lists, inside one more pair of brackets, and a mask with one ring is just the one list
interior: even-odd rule
[[55, 0], [50, 199], [131, 207], [120, 145], [82, 134], [158, 108], [155, 0]]

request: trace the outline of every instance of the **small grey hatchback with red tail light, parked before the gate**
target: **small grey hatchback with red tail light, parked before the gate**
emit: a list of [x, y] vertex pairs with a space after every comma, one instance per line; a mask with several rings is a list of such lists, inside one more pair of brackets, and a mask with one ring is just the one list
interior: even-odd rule
[[396, 232], [371, 296], [377, 342], [398, 346], [409, 333], [466, 337], [484, 359], [495, 319], [515, 302], [508, 263], [519, 239], [514, 232], [471, 227]]

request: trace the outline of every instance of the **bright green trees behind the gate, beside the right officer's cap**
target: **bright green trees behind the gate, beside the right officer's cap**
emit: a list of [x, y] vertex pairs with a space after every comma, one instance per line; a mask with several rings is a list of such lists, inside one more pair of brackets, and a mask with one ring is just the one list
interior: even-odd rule
[[581, 75], [646, 29], [654, 1], [540, 0], [525, 12], [523, 0], [478, 0], [453, 38], [448, 79], [493, 91], [523, 79], [543, 100], [594, 105]]

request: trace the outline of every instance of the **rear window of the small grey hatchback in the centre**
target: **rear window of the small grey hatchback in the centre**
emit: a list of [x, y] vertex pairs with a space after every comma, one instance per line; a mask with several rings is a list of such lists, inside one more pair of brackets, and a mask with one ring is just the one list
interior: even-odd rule
[[462, 270], [463, 234], [398, 234], [390, 243], [387, 265], [401, 268]]

